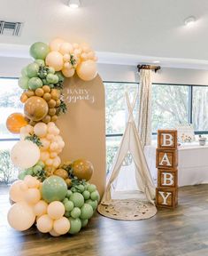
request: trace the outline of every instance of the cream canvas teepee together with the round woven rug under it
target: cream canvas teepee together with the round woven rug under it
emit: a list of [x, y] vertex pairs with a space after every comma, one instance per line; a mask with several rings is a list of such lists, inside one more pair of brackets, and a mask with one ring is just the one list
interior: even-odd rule
[[[135, 107], [135, 100], [133, 101], [133, 104], [131, 106], [129, 97], [126, 93], [126, 99], [127, 99], [127, 107], [128, 107], [128, 121], [127, 121], [127, 127], [126, 131], [124, 132], [123, 138], [121, 140], [119, 150], [117, 153], [117, 156], [115, 158], [114, 164], [112, 165], [112, 172], [109, 174], [110, 178], [107, 181], [107, 187], [104, 192], [104, 196], [102, 198], [101, 204], [98, 207], [98, 212], [103, 214], [104, 216], [113, 218], [113, 219], [119, 219], [119, 220], [141, 220], [141, 219], [147, 219], [151, 216], [155, 215], [157, 212], [157, 209], [154, 205], [154, 198], [155, 198], [155, 186], [153, 184], [153, 181], [150, 176], [150, 170], [148, 168], [145, 156], [143, 154], [143, 148], [141, 145], [141, 141], [138, 136], [138, 132], [135, 126], [135, 120], [133, 116], [133, 109]], [[124, 168], [123, 170], [123, 180], [124, 180], [124, 172], [126, 172], [126, 175], [131, 175], [131, 179], [135, 179], [135, 190], [140, 191], [143, 193], [145, 197], [145, 202], [138, 201], [138, 198], [135, 198], [137, 195], [134, 194], [134, 198], [126, 198], [126, 195], [129, 194], [123, 190], [122, 193], [119, 194], [119, 199], [115, 200], [112, 198], [113, 190], [116, 190], [118, 187], [122, 187], [122, 182], [116, 182], [118, 180], [120, 170], [122, 168], [123, 162], [125, 160], [125, 157], [127, 154], [130, 154], [132, 156], [132, 162], [131, 168], [129, 170], [128, 168]], [[132, 169], [134, 168], [134, 170]], [[134, 177], [133, 175], [134, 174]], [[119, 181], [119, 180], [118, 180]], [[118, 184], [119, 183], [119, 184]], [[134, 182], [133, 182], [134, 183]], [[132, 184], [133, 184], [132, 183]], [[121, 186], [120, 186], [121, 184]], [[128, 189], [128, 190], [134, 190], [134, 189]], [[131, 193], [130, 193], [131, 197]], [[121, 205], [123, 204], [124, 208], [132, 209], [133, 207], [136, 212], [128, 212], [124, 210], [122, 212]], [[117, 206], [116, 206], [117, 205]], [[119, 207], [119, 210], [118, 210]], [[142, 213], [140, 214], [140, 210], [142, 209]], [[111, 216], [112, 211], [112, 216]], [[120, 213], [120, 216], [119, 216]], [[135, 216], [133, 216], [132, 215]], [[146, 214], [146, 215], [145, 215]], [[144, 216], [145, 215], [145, 216]], [[129, 217], [129, 218], [128, 218]]]

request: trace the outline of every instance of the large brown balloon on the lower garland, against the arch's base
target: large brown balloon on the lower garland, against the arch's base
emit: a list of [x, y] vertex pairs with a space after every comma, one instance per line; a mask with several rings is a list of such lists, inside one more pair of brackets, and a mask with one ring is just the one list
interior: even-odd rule
[[90, 180], [94, 172], [93, 165], [84, 159], [78, 159], [73, 162], [73, 174], [79, 180]]

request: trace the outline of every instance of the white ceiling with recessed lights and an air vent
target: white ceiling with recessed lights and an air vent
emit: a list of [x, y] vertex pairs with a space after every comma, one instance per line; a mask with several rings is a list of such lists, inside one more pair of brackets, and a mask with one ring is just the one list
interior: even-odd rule
[[[134, 61], [175, 60], [208, 67], [207, 0], [81, 0], [76, 10], [66, 3], [0, 0], [0, 20], [24, 23], [21, 36], [0, 36], [0, 44], [29, 45], [62, 37], [89, 43], [105, 60], [128, 56]], [[196, 16], [192, 28], [184, 26], [190, 15]]]

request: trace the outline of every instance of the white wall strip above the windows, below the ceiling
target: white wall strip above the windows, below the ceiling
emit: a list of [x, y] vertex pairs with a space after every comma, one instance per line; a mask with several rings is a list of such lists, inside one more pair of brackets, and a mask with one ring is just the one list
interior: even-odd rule
[[[0, 58], [0, 76], [18, 77], [21, 68], [31, 60], [19, 58]], [[139, 74], [136, 67], [126, 65], [98, 64], [98, 72], [104, 81], [138, 82]], [[202, 84], [208, 85], [208, 71], [186, 68], [162, 68], [153, 73], [154, 83], [164, 84]]]

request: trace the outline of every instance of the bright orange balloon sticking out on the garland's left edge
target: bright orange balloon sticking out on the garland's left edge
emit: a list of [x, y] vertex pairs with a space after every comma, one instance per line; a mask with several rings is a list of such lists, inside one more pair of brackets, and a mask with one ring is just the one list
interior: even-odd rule
[[21, 127], [27, 124], [25, 117], [21, 113], [13, 113], [6, 120], [6, 127], [12, 133], [19, 133]]

